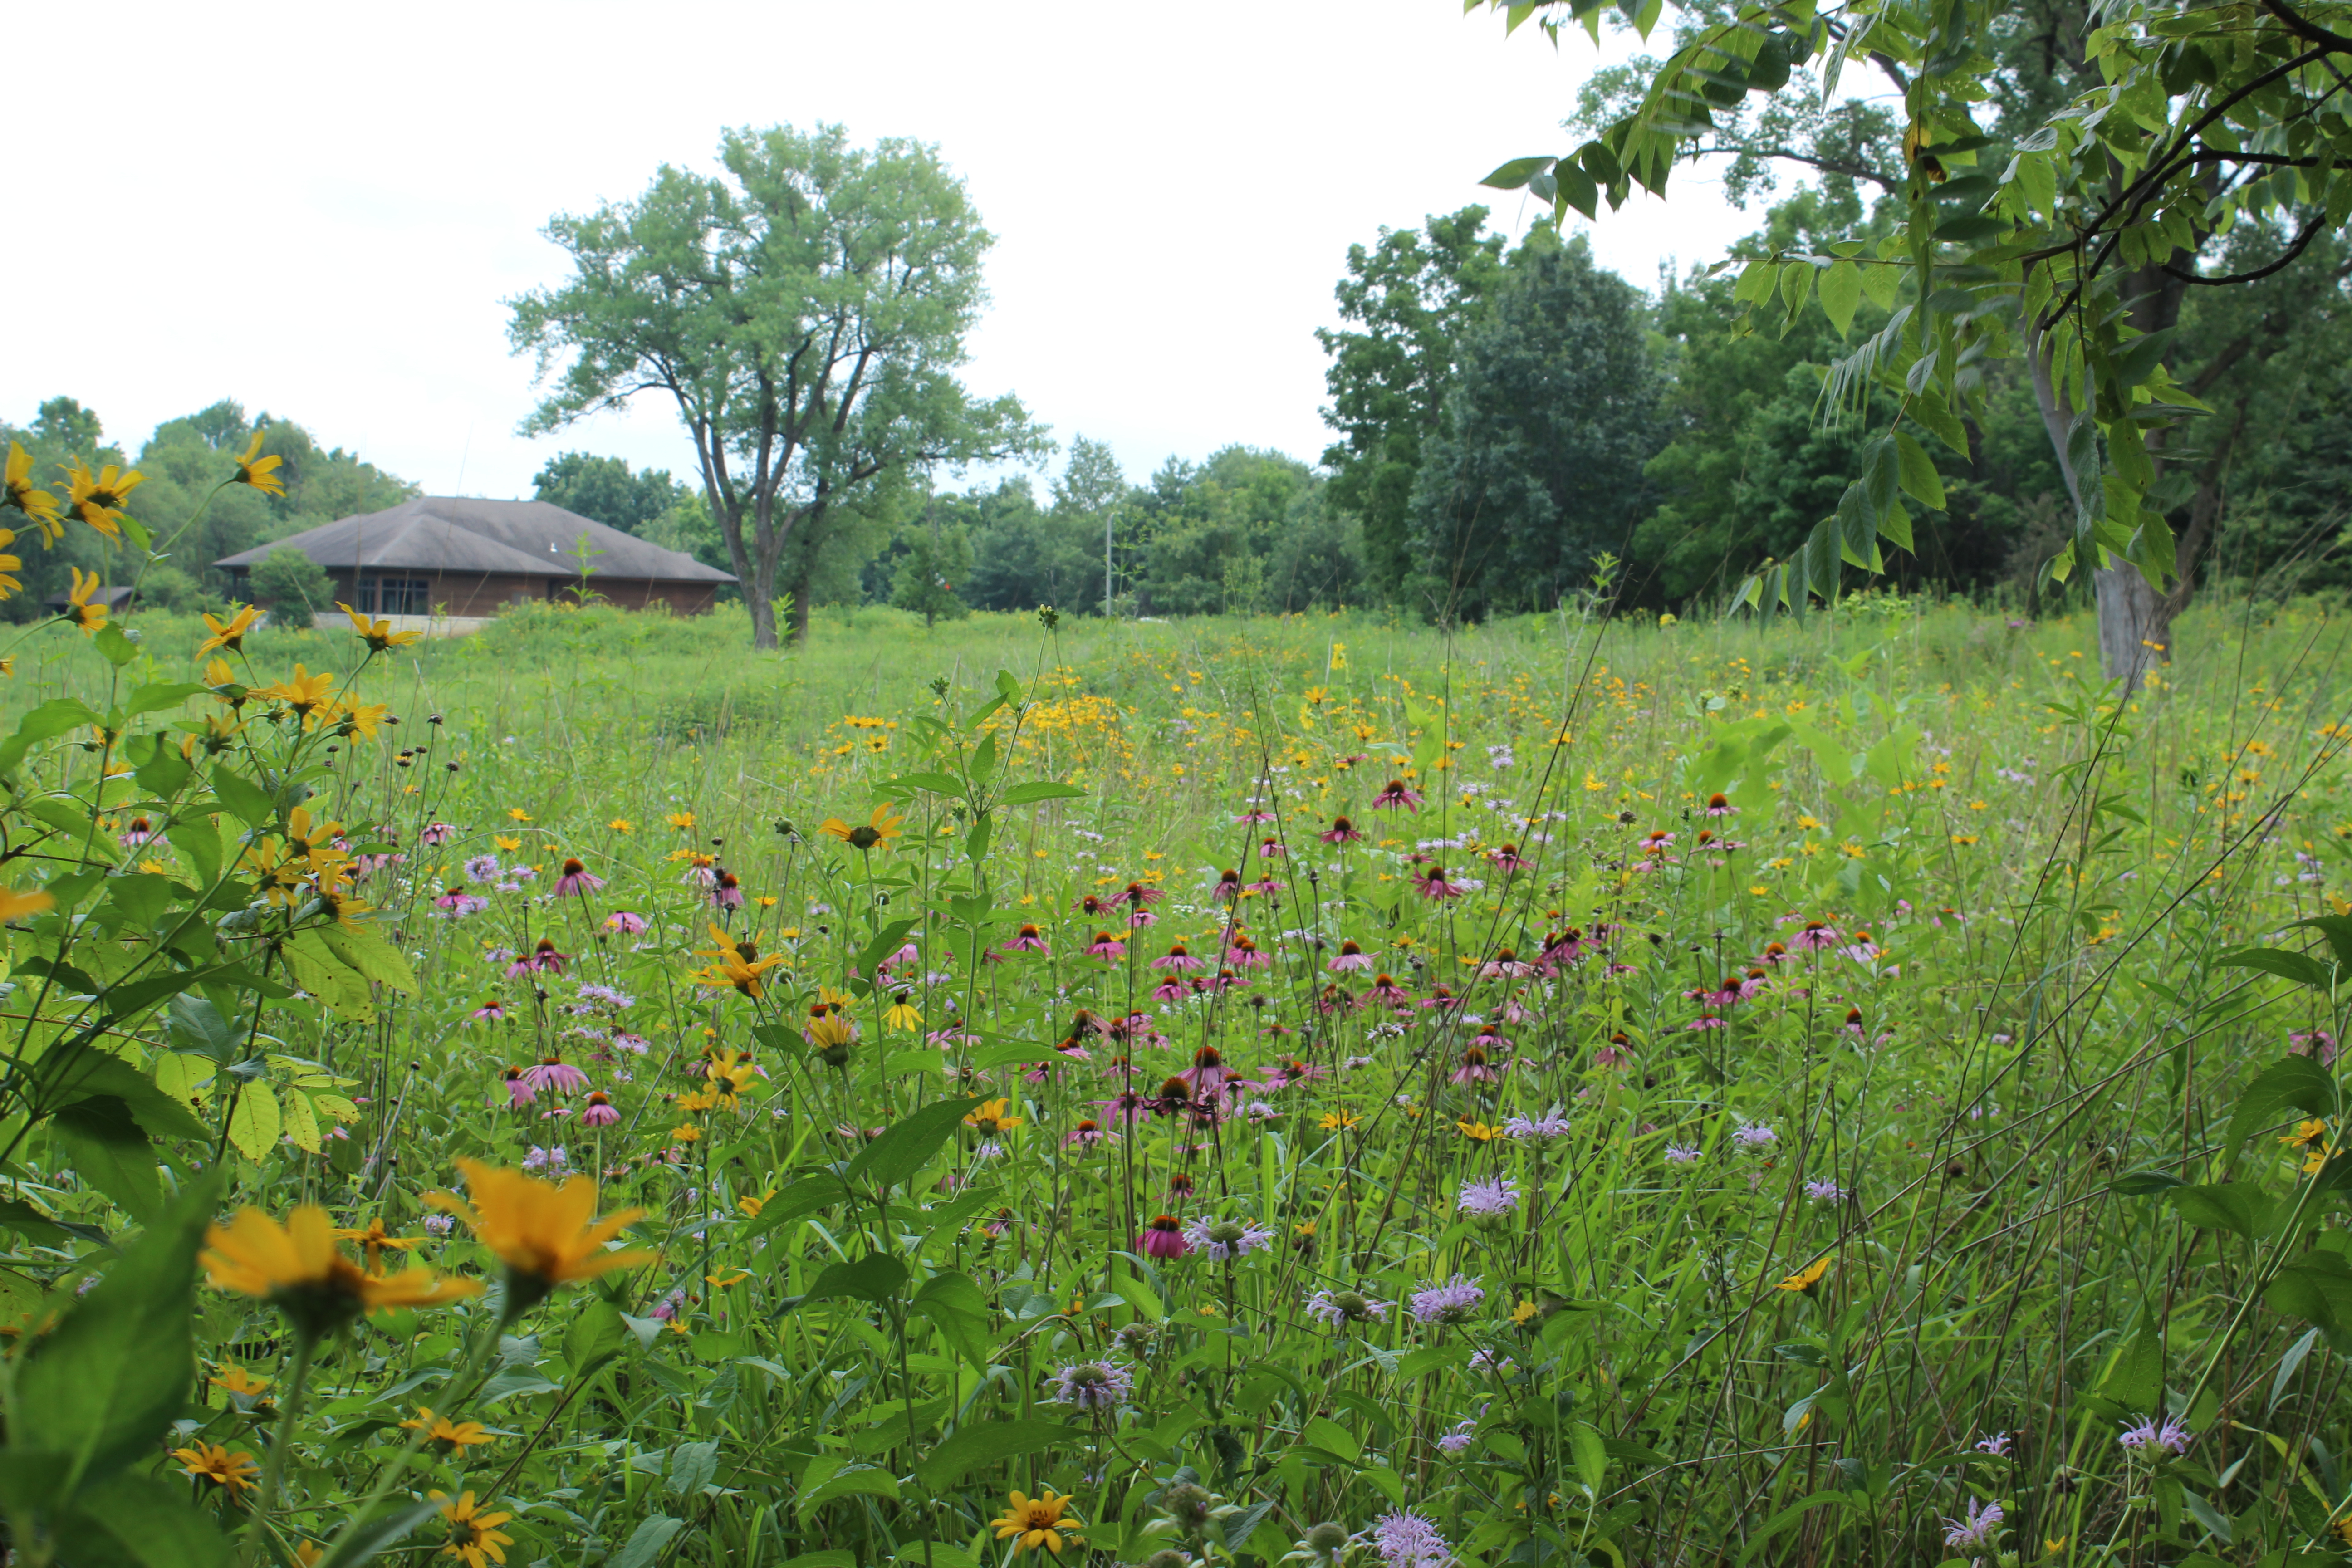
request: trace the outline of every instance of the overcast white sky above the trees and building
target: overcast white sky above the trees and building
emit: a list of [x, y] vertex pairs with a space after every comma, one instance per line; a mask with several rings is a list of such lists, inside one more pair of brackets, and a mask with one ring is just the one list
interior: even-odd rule
[[[503, 299], [555, 282], [555, 212], [710, 167], [720, 127], [938, 143], [997, 235], [976, 393], [1105, 440], [1131, 480], [1249, 442], [1315, 458], [1348, 244], [1517, 193], [1599, 59], [1458, 0], [24, 7], [0, 418], [92, 404], [132, 451], [216, 397], [428, 494], [527, 496], [555, 451], [689, 477], [652, 400], [522, 440]], [[1653, 287], [1759, 214], [1691, 179], [1595, 249]], [[1058, 458], [1054, 463], [1058, 468]]]

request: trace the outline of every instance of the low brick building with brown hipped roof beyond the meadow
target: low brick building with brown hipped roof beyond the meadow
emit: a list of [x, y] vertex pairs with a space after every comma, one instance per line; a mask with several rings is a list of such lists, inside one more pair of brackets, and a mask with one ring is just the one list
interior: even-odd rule
[[[238, 597], [270, 550], [294, 548], [327, 569], [334, 597], [372, 616], [473, 621], [508, 604], [564, 599], [586, 588], [623, 609], [668, 604], [682, 616], [710, 609], [734, 574], [663, 550], [550, 501], [419, 496], [383, 512], [341, 517], [308, 534], [273, 538], [214, 562]], [[320, 607], [325, 609], [325, 607]]]

